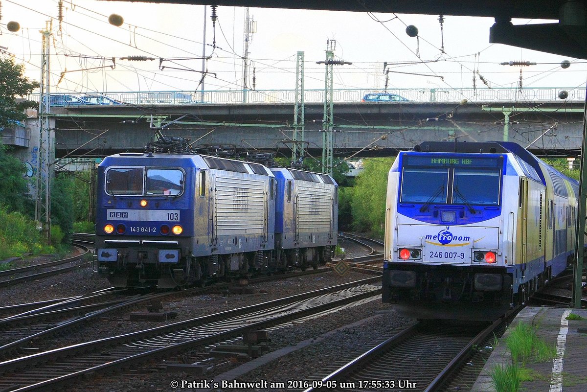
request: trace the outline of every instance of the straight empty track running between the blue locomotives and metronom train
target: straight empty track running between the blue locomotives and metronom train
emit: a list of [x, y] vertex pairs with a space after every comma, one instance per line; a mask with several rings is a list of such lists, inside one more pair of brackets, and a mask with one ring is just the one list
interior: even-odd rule
[[0, 389], [14, 391], [57, 388], [90, 373], [119, 370], [191, 347], [217, 343], [250, 329], [284, 325], [291, 320], [335, 312], [375, 300], [381, 295], [379, 277], [315, 290], [197, 319], [185, 320], [32, 354], [0, 363]]

